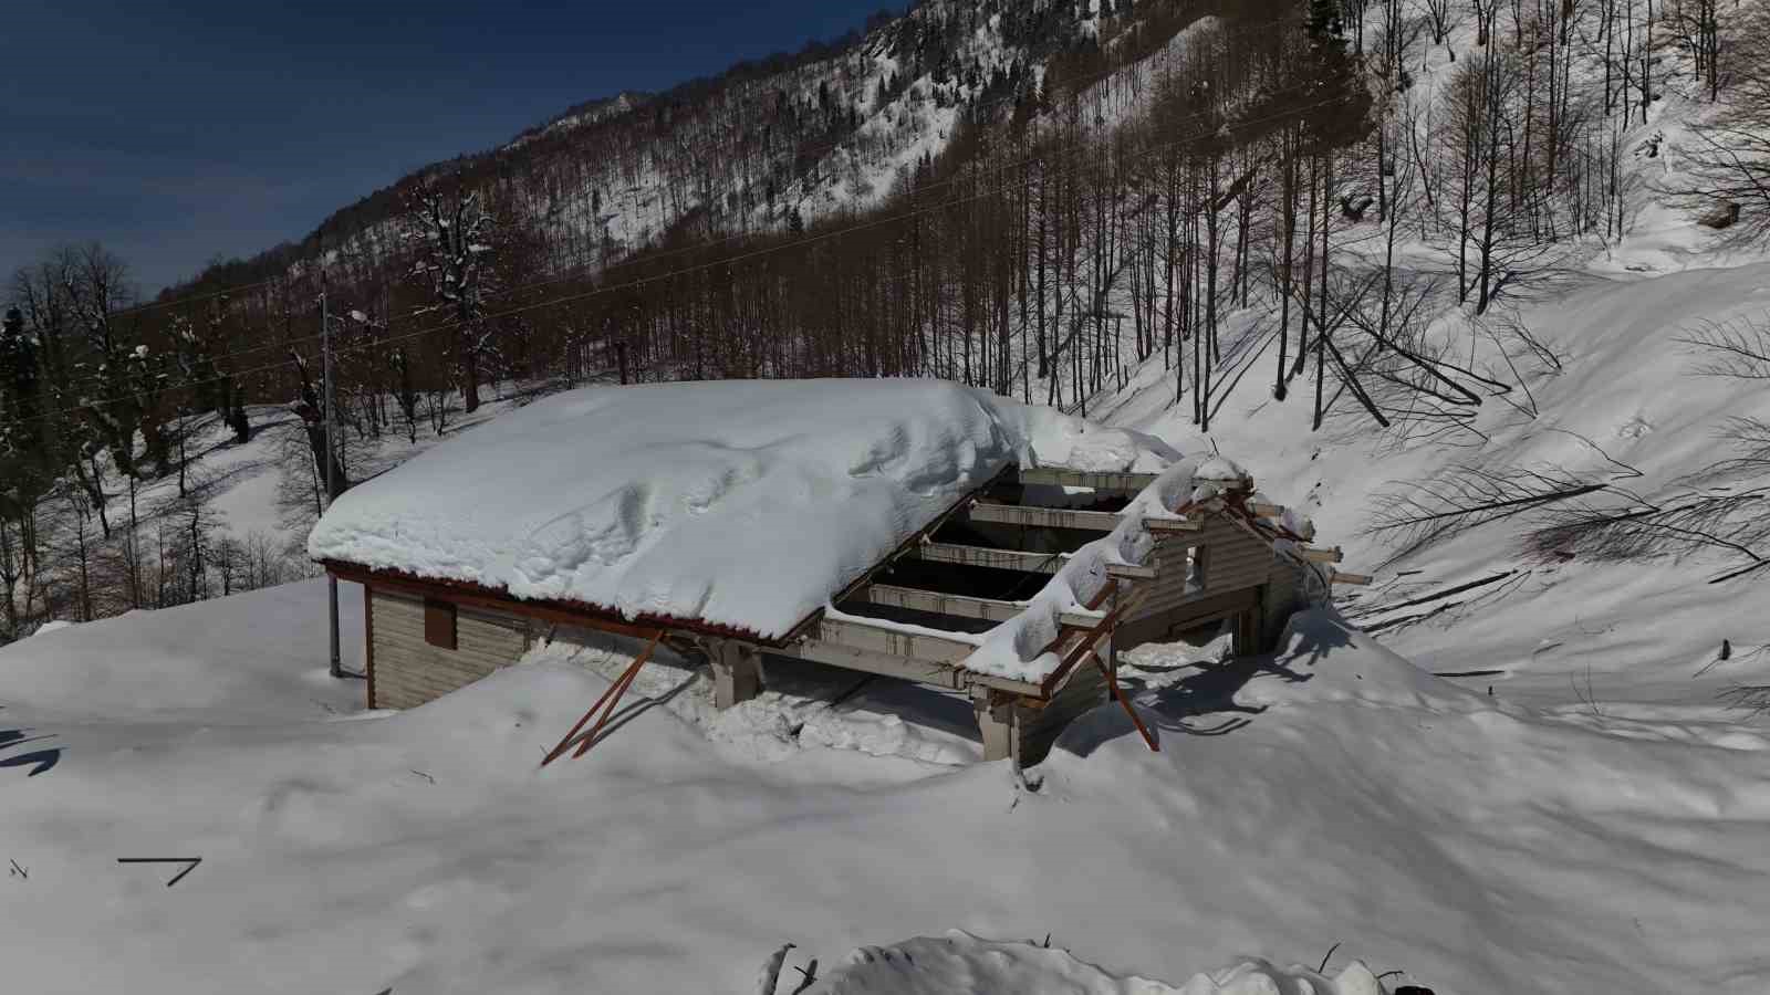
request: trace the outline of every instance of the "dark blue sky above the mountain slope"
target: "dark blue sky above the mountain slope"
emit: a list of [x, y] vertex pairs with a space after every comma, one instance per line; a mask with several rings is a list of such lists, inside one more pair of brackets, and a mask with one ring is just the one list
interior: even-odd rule
[[99, 239], [152, 294], [575, 103], [796, 51], [883, 5], [27, 0], [0, 25], [0, 280]]

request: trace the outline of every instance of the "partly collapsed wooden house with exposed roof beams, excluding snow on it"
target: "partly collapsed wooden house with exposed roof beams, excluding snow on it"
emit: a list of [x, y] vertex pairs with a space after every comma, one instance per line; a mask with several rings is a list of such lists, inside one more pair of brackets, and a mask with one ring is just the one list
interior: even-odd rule
[[[1216, 480], [1214, 498], [1168, 508], [1172, 517], [1142, 519], [1149, 556], [1142, 565], [1108, 567], [1094, 602], [1062, 614], [1048, 646], [1060, 664], [1044, 680], [968, 669], [981, 634], [1023, 613], [1069, 554], [1117, 529], [1120, 510], [1154, 480], [1009, 466], [832, 593], [834, 613], [816, 611], [775, 639], [699, 620], [623, 618], [581, 602], [522, 600], [469, 582], [324, 565], [365, 590], [370, 708], [421, 705], [517, 662], [565, 625], [662, 639], [703, 655], [719, 708], [761, 690], [770, 655], [963, 692], [984, 758], [1032, 765], [1071, 719], [1119, 698], [1120, 650], [1227, 623], [1237, 655], [1266, 652], [1308, 598], [1312, 575], [1368, 581], [1328, 567], [1340, 551], [1308, 545], [1313, 536], [1287, 528], [1283, 508], [1255, 499], [1250, 478]], [[1120, 703], [1143, 731], [1129, 703]]]

